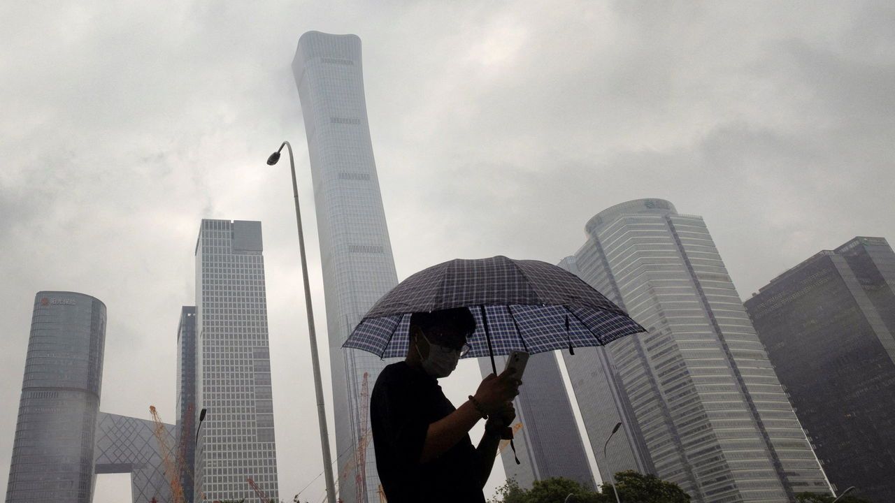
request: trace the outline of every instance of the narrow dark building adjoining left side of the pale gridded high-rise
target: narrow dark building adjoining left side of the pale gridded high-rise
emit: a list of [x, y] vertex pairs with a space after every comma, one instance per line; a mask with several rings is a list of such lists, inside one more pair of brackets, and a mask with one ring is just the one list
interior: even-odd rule
[[178, 456], [183, 460], [180, 484], [183, 499], [192, 503], [193, 465], [195, 464], [196, 411], [196, 306], [183, 306], [177, 323], [177, 428]]

